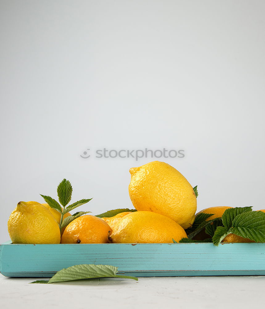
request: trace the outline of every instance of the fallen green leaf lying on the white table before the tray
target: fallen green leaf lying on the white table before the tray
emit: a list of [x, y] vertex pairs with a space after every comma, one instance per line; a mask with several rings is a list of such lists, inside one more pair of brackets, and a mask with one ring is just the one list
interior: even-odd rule
[[[48, 281], [48, 283], [90, 279], [90, 278], [126, 278], [126, 279], [138, 280], [138, 278], [136, 277], [117, 275], [116, 274], [117, 271], [118, 267], [112, 265], [95, 265], [95, 264], [75, 265], [58, 271]], [[43, 283], [43, 282], [35, 281], [34, 283]]]

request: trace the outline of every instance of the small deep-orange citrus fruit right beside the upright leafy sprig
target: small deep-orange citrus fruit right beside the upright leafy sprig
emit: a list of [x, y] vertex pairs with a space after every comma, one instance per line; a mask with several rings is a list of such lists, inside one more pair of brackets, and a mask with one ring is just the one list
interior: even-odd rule
[[100, 218], [86, 215], [66, 226], [61, 243], [108, 243], [112, 229]]

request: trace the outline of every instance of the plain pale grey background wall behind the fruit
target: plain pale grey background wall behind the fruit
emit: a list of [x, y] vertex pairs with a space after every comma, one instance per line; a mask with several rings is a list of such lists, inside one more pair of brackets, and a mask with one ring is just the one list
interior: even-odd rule
[[198, 210], [264, 209], [264, 1], [0, 1], [1, 224], [18, 201], [132, 207], [130, 167], [159, 159], [198, 185]]

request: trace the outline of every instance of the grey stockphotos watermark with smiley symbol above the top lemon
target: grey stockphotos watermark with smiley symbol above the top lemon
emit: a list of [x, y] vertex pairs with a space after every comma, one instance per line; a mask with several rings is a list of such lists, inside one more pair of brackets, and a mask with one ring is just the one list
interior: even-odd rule
[[134, 158], [135, 161], [138, 161], [138, 159], [141, 158], [184, 158], [185, 154], [184, 154], [185, 150], [175, 150], [175, 149], [171, 149], [171, 150], [167, 150], [166, 148], [161, 149], [157, 149], [157, 150], [151, 150], [151, 149], [147, 149], [145, 148], [144, 150], [142, 149], [120, 149], [120, 150], [115, 150], [115, 149], [111, 149], [108, 150], [107, 148], [103, 148], [103, 149], [97, 149], [95, 150], [95, 152], [93, 153], [93, 151], [89, 148], [87, 148], [82, 155], [80, 155], [81, 158], [83, 159], [88, 159], [91, 157], [91, 155], [95, 158], [121, 158], [121, 159], [125, 159], [125, 158]]

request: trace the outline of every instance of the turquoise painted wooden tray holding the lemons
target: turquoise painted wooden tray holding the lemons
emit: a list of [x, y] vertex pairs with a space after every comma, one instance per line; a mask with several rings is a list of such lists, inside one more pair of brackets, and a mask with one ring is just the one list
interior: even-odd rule
[[78, 264], [118, 266], [136, 277], [265, 275], [265, 243], [138, 243], [0, 245], [7, 277], [52, 277]]

